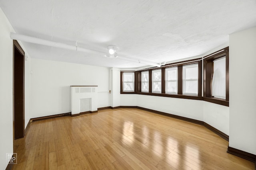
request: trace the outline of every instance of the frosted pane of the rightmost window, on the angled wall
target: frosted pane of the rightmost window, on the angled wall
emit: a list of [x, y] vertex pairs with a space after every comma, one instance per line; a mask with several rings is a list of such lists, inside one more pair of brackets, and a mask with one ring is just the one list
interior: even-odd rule
[[226, 57], [213, 62], [212, 96], [226, 99]]

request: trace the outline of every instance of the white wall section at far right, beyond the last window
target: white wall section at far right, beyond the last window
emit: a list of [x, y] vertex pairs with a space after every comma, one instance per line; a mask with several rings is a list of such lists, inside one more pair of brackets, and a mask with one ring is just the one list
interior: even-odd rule
[[256, 154], [256, 27], [230, 35], [229, 146]]

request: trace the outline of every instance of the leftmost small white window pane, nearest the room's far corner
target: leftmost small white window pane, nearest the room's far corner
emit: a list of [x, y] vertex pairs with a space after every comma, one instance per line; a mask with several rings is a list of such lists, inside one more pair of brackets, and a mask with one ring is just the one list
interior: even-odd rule
[[134, 72], [123, 73], [123, 92], [134, 92]]

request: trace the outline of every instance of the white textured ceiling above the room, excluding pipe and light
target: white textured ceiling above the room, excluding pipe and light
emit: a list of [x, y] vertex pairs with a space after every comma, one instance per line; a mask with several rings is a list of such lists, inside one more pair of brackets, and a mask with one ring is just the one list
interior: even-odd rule
[[[204, 55], [256, 26], [256, 0], [0, 0], [16, 33], [154, 63]], [[32, 58], [107, 67], [146, 64], [23, 42]]]

